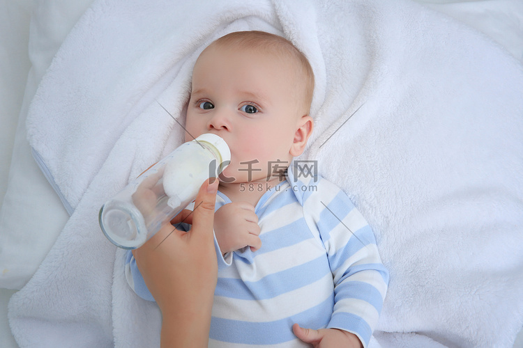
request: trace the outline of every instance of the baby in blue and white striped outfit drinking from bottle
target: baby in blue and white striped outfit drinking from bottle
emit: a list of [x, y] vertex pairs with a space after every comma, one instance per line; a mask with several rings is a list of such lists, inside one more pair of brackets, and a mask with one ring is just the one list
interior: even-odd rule
[[[378, 322], [388, 272], [372, 230], [314, 161], [294, 160], [313, 89], [307, 58], [277, 35], [230, 33], [197, 59], [185, 141], [218, 134], [232, 154], [215, 204], [209, 347], [366, 347]], [[126, 276], [153, 301], [130, 252]]]

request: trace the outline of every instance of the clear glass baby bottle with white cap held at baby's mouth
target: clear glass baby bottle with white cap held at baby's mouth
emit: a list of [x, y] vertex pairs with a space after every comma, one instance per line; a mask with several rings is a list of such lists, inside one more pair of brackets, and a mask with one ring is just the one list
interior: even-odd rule
[[196, 198], [205, 180], [218, 177], [230, 161], [227, 143], [215, 134], [183, 143], [102, 206], [100, 227], [120, 248], [142, 246]]

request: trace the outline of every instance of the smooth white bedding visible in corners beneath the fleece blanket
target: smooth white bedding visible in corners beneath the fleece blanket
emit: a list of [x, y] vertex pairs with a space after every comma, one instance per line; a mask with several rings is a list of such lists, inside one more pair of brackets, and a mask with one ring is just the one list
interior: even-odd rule
[[[61, 200], [31, 157], [25, 137], [24, 118], [38, 81], [90, 2], [3, 1], [0, 5], [0, 13], [5, 16], [0, 21], [3, 48], [0, 56], [0, 197], [3, 198], [7, 192], [0, 202], [3, 203], [0, 221], [0, 287], [5, 289], [18, 290], [24, 286], [68, 219]], [[482, 31], [515, 58], [523, 61], [521, 1], [419, 2]], [[6, 301], [12, 292], [2, 290], [1, 347], [16, 347], [10, 338], [5, 314]], [[517, 347], [523, 347], [523, 342], [517, 343]]]

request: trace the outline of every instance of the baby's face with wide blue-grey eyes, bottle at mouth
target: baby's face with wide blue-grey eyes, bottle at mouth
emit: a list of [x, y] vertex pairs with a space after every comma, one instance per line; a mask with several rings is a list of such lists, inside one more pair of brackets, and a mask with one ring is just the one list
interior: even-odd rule
[[292, 159], [303, 116], [298, 83], [296, 69], [282, 58], [236, 47], [206, 49], [192, 76], [185, 141], [217, 134], [231, 149], [225, 177], [266, 180], [275, 166], [288, 166]]

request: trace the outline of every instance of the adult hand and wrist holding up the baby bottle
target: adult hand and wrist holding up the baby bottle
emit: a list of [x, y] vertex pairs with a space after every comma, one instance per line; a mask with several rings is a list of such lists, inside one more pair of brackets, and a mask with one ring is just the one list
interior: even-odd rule
[[204, 182], [194, 211], [175, 220], [189, 232], [166, 224], [132, 253], [162, 312], [162, 347], [207, 347], [213, 294], [218, 281], [213, 217], [218, 180]]

